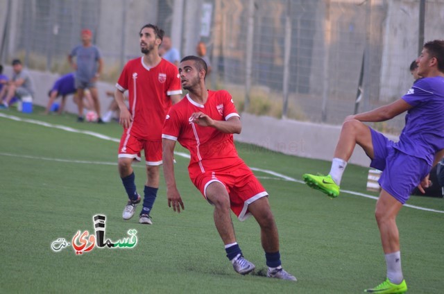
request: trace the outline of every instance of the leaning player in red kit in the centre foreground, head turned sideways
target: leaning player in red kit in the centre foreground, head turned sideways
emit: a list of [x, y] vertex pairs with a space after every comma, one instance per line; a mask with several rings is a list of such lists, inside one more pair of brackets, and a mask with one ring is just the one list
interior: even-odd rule
[[255, 269], [255, 265], [244, 258], [237, 244], [230, 209], [239, 220], [252, 214], [259, 223], [267, 276], [296, 281], [296, 277], [281, 266], [278, 228], [266, 197], [268, 193], [237, 155], [233, 134], [241, 132], [241, 121], [231, 95], [223, 90], [207, 90], [207, 64], [201, 58], [183, 58], [179, 73], [182, 87], [189, 93], [171, 107], [162, 130], [169, 207], [178, 212], [185, 208], [173, 168], [173, 150], [179, 141], [191, 153], [188, 166], [191, 181], [214, 205], [214, 223], [234, 270], [246, 275]]

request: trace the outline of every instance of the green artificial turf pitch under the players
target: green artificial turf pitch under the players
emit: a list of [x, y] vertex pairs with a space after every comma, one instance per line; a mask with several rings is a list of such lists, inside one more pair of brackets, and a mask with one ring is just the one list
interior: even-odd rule
[[[385, 279], [375, 199], [342, 192], [330, 200], [302, 184], [303, 173], [326, 173], [329, 162], [237, 144], [270, 194], [282, 265], [298, 278], [294, 283], [261, 276], [259, 226], [233, 215], [239, 245], [257, 268], [255, 275], [234, 273], [212, 207], [189, 181], [187, 158], [178, 154], [175, 167], [185, 211], [169, 209], [162, 178], [153, 225], [139, 225], [140, 206], [134, 218], [121, 218], [117, 123], [9, 110], [0, 112], [0, 136], [0, 293], [361, 293]], [[377, 196], [366, 191], [367, 173], [350, 164], [342, 189]], [[143, 164], [135, 164], [135, 175], [143, 193]], [[442, 293], [444, 199], [413, 196], [407, 203], [436, 210], [403, 207], [398, 216], [409, 292]], [[78, 231], [94, 234], [96, 214], [106, 216], [108, 239], [137, 230], [135, 247], [51, 249], [57, 239], [71, 243]]]

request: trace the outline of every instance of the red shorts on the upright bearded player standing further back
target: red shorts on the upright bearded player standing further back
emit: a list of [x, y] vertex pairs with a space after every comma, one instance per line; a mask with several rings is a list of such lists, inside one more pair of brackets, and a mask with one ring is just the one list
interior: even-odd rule
[[158, 166], [162, 164], [162, 140], [139, 139], [124, 132], [120, 139], [119, 158], [133, 158], [139, 162], [141, 150], [144, 150], [146, 165]]

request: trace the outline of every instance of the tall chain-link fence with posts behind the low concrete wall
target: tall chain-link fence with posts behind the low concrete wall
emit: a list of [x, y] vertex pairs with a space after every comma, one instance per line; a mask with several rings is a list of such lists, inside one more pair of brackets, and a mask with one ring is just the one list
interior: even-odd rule
[[89, 28], [114, 83], [140, 55], [139, 28], [154, 23], [182, 56], [207, 44], [208, 82], [240, 110], [339, 124], [407, 91], [420, 42], [443, 39], [444, 0], [0, 0], [0, 16], [3, 64], [66, 73]]

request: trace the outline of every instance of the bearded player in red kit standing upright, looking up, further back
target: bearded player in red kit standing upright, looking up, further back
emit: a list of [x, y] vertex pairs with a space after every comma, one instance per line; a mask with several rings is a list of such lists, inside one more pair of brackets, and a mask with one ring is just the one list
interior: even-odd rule
[[[119, 174], [128, 194], [123, 219], [133, 217], [141, 201], [135, 186], [132, 167], [140, 161], [143, 149], [147, 180], [139, 223], [151, 225], [150, 211], [159, 188], [159, 166], [162, 164], [162, 126], [171, 103], [180, 101], [182, 87], [177, 67], [159, 56], [164, 31], [153, 24], [140, 30], [140, 47], [144, 56], [128, 61], [116, 84], [115, 99], [120, 109], [123, 135], [119, 146]], [[123, 99], [128, 90], [129, 110]]]

